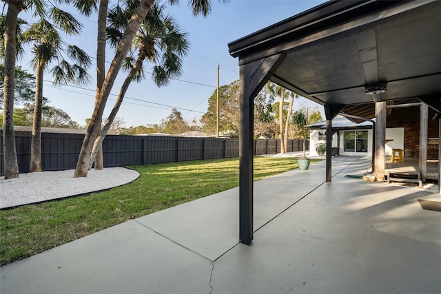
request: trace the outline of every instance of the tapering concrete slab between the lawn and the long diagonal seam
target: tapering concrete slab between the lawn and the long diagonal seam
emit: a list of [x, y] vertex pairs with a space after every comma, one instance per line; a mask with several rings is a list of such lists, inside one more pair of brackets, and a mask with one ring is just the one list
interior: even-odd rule
[[[337, 174], [347, 167], [348, 159], [340, 162], [336, 158], [334, 164], [334, 174]], [[324, 168], [325, 162], [318, 162], [306, 171], [295, 169], [255, 182], [254, 230], [325, 182]], [[152, 213], [136, 221], [214, 261], [238, 244], [238, 196], [239, 190], [234, 188]]]

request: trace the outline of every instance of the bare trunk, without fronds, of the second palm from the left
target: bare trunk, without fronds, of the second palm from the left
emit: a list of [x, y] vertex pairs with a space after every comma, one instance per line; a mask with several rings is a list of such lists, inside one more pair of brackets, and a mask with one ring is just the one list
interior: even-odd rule
[[30, 169], [41, 171], [41, 112], [43, 109], [43, 65], [37, 63], [35, 69], [34, 121], [32, 123], [32, 140], [30, 149]]

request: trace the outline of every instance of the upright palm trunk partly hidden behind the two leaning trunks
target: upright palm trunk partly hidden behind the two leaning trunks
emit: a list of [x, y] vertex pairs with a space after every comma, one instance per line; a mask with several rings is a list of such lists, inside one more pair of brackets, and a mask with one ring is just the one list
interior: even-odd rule
[[[96, 39], [96, 91], [101, 92], [101, 87], [103, 87], [105, 79], [105, 26], [107, 19], [107, 6], [109, 1], [100, 1], [99, 3], [99, 15], [98, 15], [98, 38]], [[101, 122], [100, 122], [101, 125]], [[100, 129], [101, 132], [101, 129]], [[93, 160], [92, 160], [93, 161]], [[96, 157], [94, 158], [95, 169], [101, 170], [104, 168], [103, 162], [103, 145], [99, 146], [98, 152], [96, 152]], [[90, 164], [92, 168], [93, 162]]]

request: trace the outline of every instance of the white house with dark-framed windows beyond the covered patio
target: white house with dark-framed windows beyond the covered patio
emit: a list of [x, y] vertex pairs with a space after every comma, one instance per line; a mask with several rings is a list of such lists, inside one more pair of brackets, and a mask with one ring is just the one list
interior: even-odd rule
[[[307, 126], [310, 132], [309, 155], [318, 155], [316, 147], [326, 143], [326, 120]], [[372, 156], [373, 123], [369, 120], [356, 123], [345, 117], [332, 120], [332, 154], [346, 156]], [[392, 149], [404, 150], [404, 127], [386, 128], [385, 155], [391, 156]], [[405, 155], [404, 155], [405, 156]]]

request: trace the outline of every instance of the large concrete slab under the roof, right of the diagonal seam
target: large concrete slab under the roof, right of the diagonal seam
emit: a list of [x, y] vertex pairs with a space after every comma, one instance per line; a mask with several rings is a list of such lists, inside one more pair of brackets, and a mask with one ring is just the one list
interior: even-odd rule
[[441, 293], [426, 196], [340, 173], [217, 260], [212, 293]]

